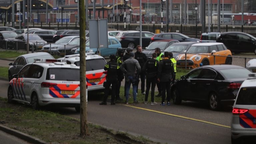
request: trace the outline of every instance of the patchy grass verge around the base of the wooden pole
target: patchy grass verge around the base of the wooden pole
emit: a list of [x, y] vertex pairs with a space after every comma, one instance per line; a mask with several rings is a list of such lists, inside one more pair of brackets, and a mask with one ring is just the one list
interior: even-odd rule
[[20, 103], [9, 104], [0, 98], [0, 123], [4, 126], [35, 136], [48, 143], [60, 144], [156, 144], [143, 136], [132, 136], [99, 125], [88, 124], [89, 136], [80, 136], [79, 119], [47, 110], [33, 110]]

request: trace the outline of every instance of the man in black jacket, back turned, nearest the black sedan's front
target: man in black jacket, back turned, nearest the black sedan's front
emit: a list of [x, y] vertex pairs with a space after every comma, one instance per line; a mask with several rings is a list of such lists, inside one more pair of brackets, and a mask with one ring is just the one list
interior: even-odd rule
[[169, 52], [164, 52], [164, 59], [160, 61], [157, 73], [157, 81], [160, 82], [162, 89], [162, 106], [165, 105], [165, 92], [167, 93], [167, 105], [170, 105], [172, 76], [174, 76], [174, 66], [169, 58]]

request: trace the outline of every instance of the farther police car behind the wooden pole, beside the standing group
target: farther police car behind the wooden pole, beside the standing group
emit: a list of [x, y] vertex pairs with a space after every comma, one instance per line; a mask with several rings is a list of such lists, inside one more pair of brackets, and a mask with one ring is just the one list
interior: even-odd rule
[[[104, 66], [107, 63], [106, 60], [99, 55], [92, 53], [86, 53], [86, 82], [88, 85], [88, 91], [104, 90], [103, 82], [106, 80], [106, 71]], [[79, 54], [67, 55], [63, 58], [59, 58], [67, 61], [67, 64], [75, 64], [80, 66]]]

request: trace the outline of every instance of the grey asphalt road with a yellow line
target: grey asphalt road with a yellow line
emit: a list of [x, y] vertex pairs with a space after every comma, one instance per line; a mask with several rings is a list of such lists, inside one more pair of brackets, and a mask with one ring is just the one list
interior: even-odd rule
[[[0, 80], [1, 97], [7, 97], [8, 82]], [[91, 93], [89, 97], [93, 97]], [[182, 105], [99, 105], [88, 102], [88, 121], [118, 131], [142, 135], [170, 144], [229, 144], [231, 109], [211, 111], [204, 104], [183, 102]], [[52, 110], [80, 118], [74, 108]]]

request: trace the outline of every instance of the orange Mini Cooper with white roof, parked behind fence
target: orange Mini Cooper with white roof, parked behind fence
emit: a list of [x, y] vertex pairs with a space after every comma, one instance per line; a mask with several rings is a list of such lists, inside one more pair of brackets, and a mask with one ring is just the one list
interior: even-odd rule
[[214, 56], [215, 64], [232, 64], [231, 51], [223, 43], [196, 43], [184, 52], [187, 55], [184, 53], [175, 58], [177, 67], [184, 68], [186, 60], [188, 69], [199, 67], [200, 63], [201, 65], [214, 65]]

